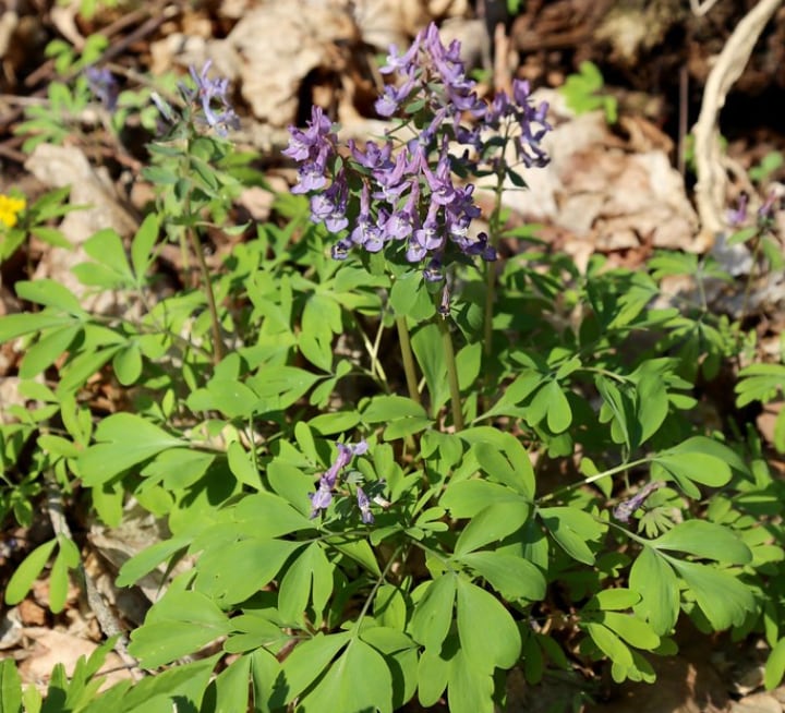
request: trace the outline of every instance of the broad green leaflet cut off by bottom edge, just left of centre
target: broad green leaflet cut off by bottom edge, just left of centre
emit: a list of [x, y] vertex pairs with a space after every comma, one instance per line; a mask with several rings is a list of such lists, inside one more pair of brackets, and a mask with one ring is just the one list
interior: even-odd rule
[[352, 639], [301, 705], [313, 711], [392, 713], [392, 677], [375, 649]]

